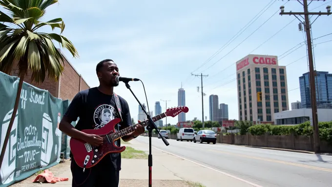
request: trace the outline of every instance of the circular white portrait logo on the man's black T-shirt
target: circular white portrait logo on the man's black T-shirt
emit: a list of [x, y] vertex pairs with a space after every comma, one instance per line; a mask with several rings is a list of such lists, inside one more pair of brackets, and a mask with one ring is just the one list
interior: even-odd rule
[[104, 127], [108, 122], [117, 117], [117, 112], [111, 105], [100, 105], [94, 112], [93, 120], [95, 122], [94, 129], [100, 129]]

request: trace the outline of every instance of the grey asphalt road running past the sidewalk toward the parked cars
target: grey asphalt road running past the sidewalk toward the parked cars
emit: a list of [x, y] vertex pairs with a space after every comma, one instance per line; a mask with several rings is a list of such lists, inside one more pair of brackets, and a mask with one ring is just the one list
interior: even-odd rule
[[[139, 136], [136, 140], [148, 146], [148, 137]], [[329, 155], [167, 141], [169, 146], [161, 139], [152, 138], [152, 146], [263, 187], [332, 187]]]

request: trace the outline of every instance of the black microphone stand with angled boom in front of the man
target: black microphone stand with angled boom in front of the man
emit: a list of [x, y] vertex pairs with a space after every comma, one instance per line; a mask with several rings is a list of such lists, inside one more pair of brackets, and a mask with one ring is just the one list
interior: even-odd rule
[[149, 123], [146, 126], [146, 129], [148, 131], [148, 136], [149, 136], [149, 155], [148, 155], [149, 180], [148, 181], [149, 181], [149, 187], [152, 187], [152, 151], [151, 151], [152, 150], [152, 145], [151, 145], [152, 142], [151, 142], [151, 137], [152, 137], [153, 129], [155, 129], [158, 132], [159, 136], [161, 137], [161, 139], [163, 140], [163, 142], [165, 143], [166, 146], [168, 146], [169, 143], [167, 142], [166, 138], [160, 133], [160, 131], [157, 128], [156, 124], [151, 119], [151, 116], [146, 112], [145, 108], [143, 107], [141, 102], [138, 100], [135, 93], [133, 93], [133, 91], [131, 90], [130, 85], [128, 84], [128, 81], [123, 81], [123, 82], [125, 82], [125, 87], [127, 87], [127, 89], [129, 89], [130, 92], [134, 95], [135, 99], [137, 100], [138, 104], [141, 106], [142, 110], [146, 114], [147, 119], [149, 120]]

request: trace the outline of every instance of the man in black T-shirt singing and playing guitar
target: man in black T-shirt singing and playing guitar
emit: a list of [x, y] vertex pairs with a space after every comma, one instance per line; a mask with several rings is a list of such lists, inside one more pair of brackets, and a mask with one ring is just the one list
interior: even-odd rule
[[[119, 76], [119, 68], [111, 59], [105, 59], [97, 64], [96, 73], [99, 86], [83, 90], [75, 95], [63, 114], [59, 128], [62, 132], [73, 138], [82, 139], [92, 146], [99, 146], [103, 138], [95, 134], [82, 132], [85, 129], [100, 129], [114, 118], [122, 118], [120, 124], [115, 126], [116, 131], [131, 126], [131, 117], [128, 103], [121, 96], [113, 93], [114, 87], [119, 83], [115, 77]], [[75, 127], [72, 121], [79, 121]], [[136, 131], [122, 137], [124, 141], [130, 141], [142, 134], [145, 129], [138, 124]], [[120, 139], [115, 142], [120, 146]], [[75, 158], [70, 155], [71, 172], [73, 176], [72, 187], [118, 187], [119, 171], [121, 170], [121, 153], [106, 155], [92, 168], [79, 167]]]

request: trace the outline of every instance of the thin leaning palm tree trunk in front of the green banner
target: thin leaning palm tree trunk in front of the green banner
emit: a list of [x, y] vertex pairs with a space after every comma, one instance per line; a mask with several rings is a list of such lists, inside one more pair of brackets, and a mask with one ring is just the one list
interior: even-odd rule
[[15, 104], [14, 104], [14, 110], [13, 110], [13, 113], [12, 113], [12, 117], [10, 118], [7, 133], [6, 133], [6, 136], [4, 138], [4, 142], [3, 142], [3, 146], [2, 146], [2, 150], [1, 150], [0, 168], [2, 166], [2, 161], [3, 161], [4, 153], [6, 151], [7, 143], [8, 143], [8, 140], [9, 140], [10, 131], [12, 130], [12, 127], [13, 127], [13, 124], [14, 124], [14, 119], [15, 119], [17, 110], [19, 108], [24, 76], [25, 76], [25, 73], [21, 74], [21, 76], [20, 76], [20, 82], [19, 82], [19, 87], [17, 88], [17, 94], [16, 94], [16, 99], [15, 99]]

